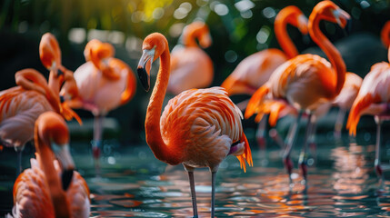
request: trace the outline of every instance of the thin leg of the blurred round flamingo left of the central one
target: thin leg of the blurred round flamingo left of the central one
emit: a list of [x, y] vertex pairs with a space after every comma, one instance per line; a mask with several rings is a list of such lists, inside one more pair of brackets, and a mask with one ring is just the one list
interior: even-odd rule
[[95, 115], [94, 117], [94, 140], [92, 141], [92, 152], [94, 155], [95, 173], [100, 173], [99, 157], [102, 147], [102, 135], [103, 135], [103, 119], [102, 115]]

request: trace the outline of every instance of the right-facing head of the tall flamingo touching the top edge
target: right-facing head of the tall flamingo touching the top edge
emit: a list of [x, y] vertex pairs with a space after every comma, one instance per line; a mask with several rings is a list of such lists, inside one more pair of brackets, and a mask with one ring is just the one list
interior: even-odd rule
[[309, 19], [314, 20], [315, 15], [319, 15], [321, 19], [340, 25], [342, 28], [345, 27], [350, 15], [343, 9], [335, 5], [331, 1], [323, 1], [315, 5], [312, 14]]

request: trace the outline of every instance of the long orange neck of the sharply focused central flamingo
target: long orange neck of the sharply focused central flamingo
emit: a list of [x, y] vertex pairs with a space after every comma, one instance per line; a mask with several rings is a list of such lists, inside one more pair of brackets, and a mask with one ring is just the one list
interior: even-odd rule
[[180, 163], [177, 154], [172, 146], [165, 144], [160, 132], [160, 115], [163, 108], [166, 87], [168, 85], [170, 74], [170, 54], [168, 44], [165, 41], [165, 51], [160, 56], [160, 69], [155, 81], [155, 87], [147, 106], [145, 119], [146, 143], [152, 149], [155, 157], [160, 161], [169, 164]]

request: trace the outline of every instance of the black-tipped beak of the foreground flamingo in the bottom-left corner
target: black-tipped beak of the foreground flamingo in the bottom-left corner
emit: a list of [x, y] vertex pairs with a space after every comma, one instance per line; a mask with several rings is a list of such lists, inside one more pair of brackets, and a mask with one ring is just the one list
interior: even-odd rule
[[63, 170], [61, 180], [63, 183], [63, 189], [66, 191], [70, 183], [72, 182], [73, 172], [75, 170], [75, 163], [69, 151], [69, 144], [59, 145], [52, 143], [52, 148], [55, 153], [55, 157], [61, 164]]

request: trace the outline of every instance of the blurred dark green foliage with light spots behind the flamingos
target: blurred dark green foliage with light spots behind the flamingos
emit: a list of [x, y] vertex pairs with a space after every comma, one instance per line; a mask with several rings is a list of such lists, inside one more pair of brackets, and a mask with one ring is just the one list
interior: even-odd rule
[[[300, 0], [2, 0], [0, 1], [0, 89], [15, 85], [15, 72], [35, 68], [46, 77], [39, 60], [40, 38], [54, 34], [60, 44], [63, 64], [70, 70], [85, 63], [85, 44], [97, 38], [115, 45], [115, 57], [135, 71], [144, 37], [164, 34], [170, 49], [178, 43], [185, 25], [202, 20], [209, 25], [213, 45], [205, 49], [215, 67], [214, 85], [220, 85], [235, 66], [249, 54], [265, 48], [279, 48], [273, 31], [275, 15], [287, 5], [297, 5], [306, 16], [319, 1]], [[347, 70], [362, 77], [372, 64], [386, 61], [387, 49], [379, 34], [390, 20], [389, 1], [335, 1], [352, 17], [346, 30], [323, 23], [324, 30], [345, 58]], [[308, 35], [288, 26], [288, 33], [300, 53], [322, 54]], [[152, 68], [156, 73], [157, 62]], [[153, 73], [152, 73], [153, 74]], [[155, 74], [154, 74], [155, 75]], [[153, 82], [152, 82], [153, 84]], [[120, 144], [145, 144], [145, 108], [150, 93], [138, 83], [135, 97], [111, 111], [105, 123], [104, 139]], [[238, 102], [241, 97], [234, 96]], [[79, 110], [83, 127], [70, 123], [72, 140], [92, 138], [92, 114]], [[372, 118], [371, 118], [372, 119]], [[372, 124], [373, 121], [370, 120]], [[253, 120], [244, 121], [248, 138], [255, 137]], [[359, 124], [360, 125], [360, 124]], [[90, 128], [91, 127], [91, 128]]]

